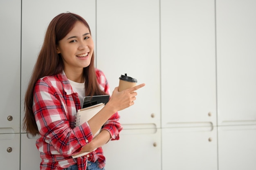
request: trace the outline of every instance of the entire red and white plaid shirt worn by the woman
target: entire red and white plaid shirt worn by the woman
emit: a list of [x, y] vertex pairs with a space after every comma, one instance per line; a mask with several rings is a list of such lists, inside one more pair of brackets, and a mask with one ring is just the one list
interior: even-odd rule
[[[96, 74], [102, 91], [110, 94], [108, 81], [103, 72], [96, 69]], [[79, 170], [85, 170], [87, 161], [97, 160], [99, 168], [105, 166], [101, 147], [88, 155], [75, 159], [71, 157], [79, 153], [82, 146], [93, 138], [87, 122], [75, 127], [75, 115], [80, 108], [78, 94], [72, 90], [64, 72], [43, 77], [36, 82], [33, 111], [40, 132], [36, 146], [41, 152], [41, 170], [62, 170], [76, 163]], [[118, 140], [122, 129], [118, 113], [112, 115], [102, 129], [110, 132], [111, 140]]]

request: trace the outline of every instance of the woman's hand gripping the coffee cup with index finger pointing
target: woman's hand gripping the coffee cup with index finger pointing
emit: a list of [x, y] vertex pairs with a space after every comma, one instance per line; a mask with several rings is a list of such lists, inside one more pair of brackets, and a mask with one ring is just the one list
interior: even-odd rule
[[116, 87], [107, 105], [112, 106], [115, 112], [132, 106], [137, 96], [137, 92], [135, 91], [143, 86], [145, 86], [144, 83], [134, 86], [132, 88], [128, 88], [121, 92], [119, 92], [118, 87]]

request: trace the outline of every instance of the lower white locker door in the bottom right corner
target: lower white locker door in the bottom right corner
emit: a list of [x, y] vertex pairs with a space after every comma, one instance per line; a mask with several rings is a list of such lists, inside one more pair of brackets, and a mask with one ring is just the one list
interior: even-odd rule
[[218, 128], [219, 170], [254, 170], [256, 125]]

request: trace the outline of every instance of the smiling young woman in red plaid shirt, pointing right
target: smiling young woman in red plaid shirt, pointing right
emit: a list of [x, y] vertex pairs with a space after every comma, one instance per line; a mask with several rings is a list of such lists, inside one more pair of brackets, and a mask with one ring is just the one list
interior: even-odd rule
[[[119, 139], [122, 129], [117, 111], [133, 105], [135, 91], [145, 85], [121, 92], [116, 87], [99, 113], [75, 127], [83, 97], [109, 94], [105, 75], [94, 68], [93, 51], [90, 27], [81, 16], [61, 13], [50, 22], [25, 96], [24, 128], [40, 136], [40, 170], [103, 170], [101, 146]], [[80, 152], [90, 153], [72, 158]]]

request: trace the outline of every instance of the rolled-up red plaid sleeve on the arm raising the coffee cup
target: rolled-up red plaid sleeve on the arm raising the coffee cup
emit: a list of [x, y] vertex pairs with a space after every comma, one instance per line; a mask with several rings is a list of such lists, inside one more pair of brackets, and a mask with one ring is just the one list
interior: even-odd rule
[[[88, 124], [76, 128], [70, 128], [71, 119], [68, 109], [76, 110], [73, 99], [63, 96], [59, 81], [40, 79], [34, 88], [33, 111], [40, 135], [48, 145], [38, 142], [38, 150], [49, 155], [70, 156], [78, 153], [81, 146], [92, 141], [92, 132]], [[75, 111], [76, 112], [76, 111]]]

